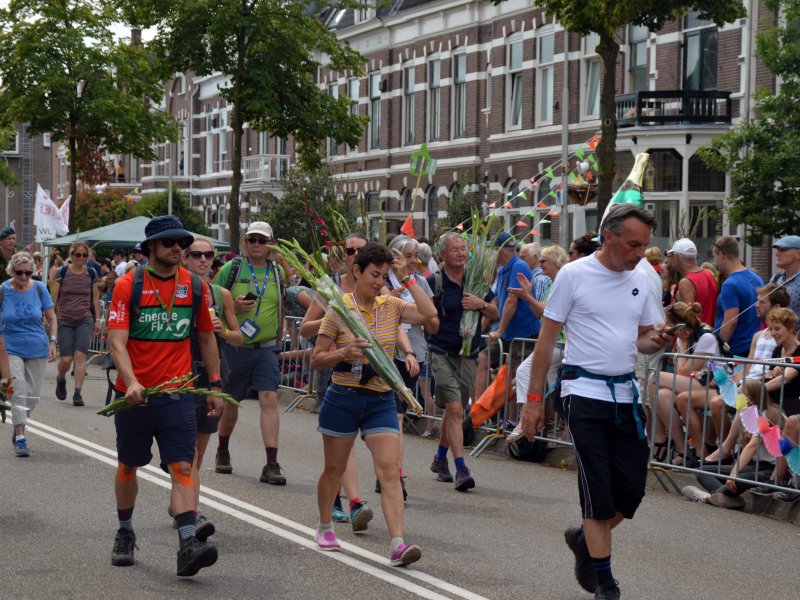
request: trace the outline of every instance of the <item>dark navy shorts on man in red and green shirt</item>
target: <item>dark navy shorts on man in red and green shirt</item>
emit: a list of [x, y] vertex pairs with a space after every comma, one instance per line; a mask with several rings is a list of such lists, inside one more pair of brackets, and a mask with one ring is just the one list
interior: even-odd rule
[[[117, 392], [117, 397], [123, 396]], [[151, 396], [147, 404], [114, 415], [117, 457], [129, 467], [142, 467], [153, 459], [153, 438], [162, 465], [194, 460], [197, 440], [194, 394]]]

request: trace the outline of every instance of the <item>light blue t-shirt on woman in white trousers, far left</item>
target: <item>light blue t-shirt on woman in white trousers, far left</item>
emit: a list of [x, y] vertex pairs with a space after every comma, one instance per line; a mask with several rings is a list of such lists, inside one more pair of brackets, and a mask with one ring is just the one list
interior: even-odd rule
[[[34, 286], [41, 287], [41, 300]], [[53, 308], [53, 300], [41, 281], [34, 281], [27, 292], [18, 292], [8, 281], [3, 283], [3, 340], [9, 354], [20, 358], [47, 358], [50, 342], [42, 324], [42, 313]]]

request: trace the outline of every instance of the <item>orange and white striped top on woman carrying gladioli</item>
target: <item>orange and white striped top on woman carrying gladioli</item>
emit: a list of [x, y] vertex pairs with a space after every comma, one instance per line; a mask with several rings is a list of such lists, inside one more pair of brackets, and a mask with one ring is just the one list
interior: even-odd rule
[[[394, 296], [378, 296], [369, 310], [364, 306], [358, 305], [353, 294], [345, 294], [344, 302], [353, 311], [358, 306], [369, 332], [378, 340], [378, 343], [391, 359], [394, 356], [394, 347], [397, 343], [397, 326], [400, 324], [400, 316], [403, 314], [408, 302]], [[377, 327], [375, 325], [376, 317]], [[332, 308], [329, 308], [328, 312], [325, 313], [322, 325], [319, 328], [319, 334], [333, 338], [337, 348], [349, 346], [355, 338], [341, 317]], [[364, 364], [368, 362], [365, 357]], [[391, 389], [383, 379], [377, 376], [367, 381], [364, 386], [359, 383], [359, 377], [352, 373], [334, 372], [332, 379], [333, 383], [338, 385], [365, 387], [376, 392], [388, 392]]]

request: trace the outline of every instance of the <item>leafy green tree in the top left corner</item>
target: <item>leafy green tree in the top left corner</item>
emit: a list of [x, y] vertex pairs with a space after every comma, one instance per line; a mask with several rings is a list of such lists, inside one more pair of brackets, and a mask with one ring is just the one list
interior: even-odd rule
[[152, 54], [114, 39], [114, 5], [11, 0], [0, 9], [0, 122], [67, 143], [73, 198], [81, 148], [153, 159], [154, 142], [178, 136], [171, 115], [151, 110], [148, 99], [164, 94]]

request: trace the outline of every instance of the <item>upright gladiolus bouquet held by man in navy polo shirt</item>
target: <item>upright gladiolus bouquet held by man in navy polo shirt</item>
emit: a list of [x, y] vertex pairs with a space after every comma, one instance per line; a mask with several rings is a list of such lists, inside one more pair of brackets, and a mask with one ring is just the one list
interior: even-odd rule
[[[470, 234], [464, 234], [467, 239], [466, 277], [464, 279], [464, 293], [483, 298], [489, 291], [497, 259], [494, 253], [495, 236], [491, 234], [492, 223], [495, 216], [491, 215], [486, 222], [477, 211], [472, 212], [472, 228]], [[472, 339], [478, 330], [480, 313], [474, 310], [465, 310], [461, 317], [461, 354], [471, 356], [473, 352]]]

